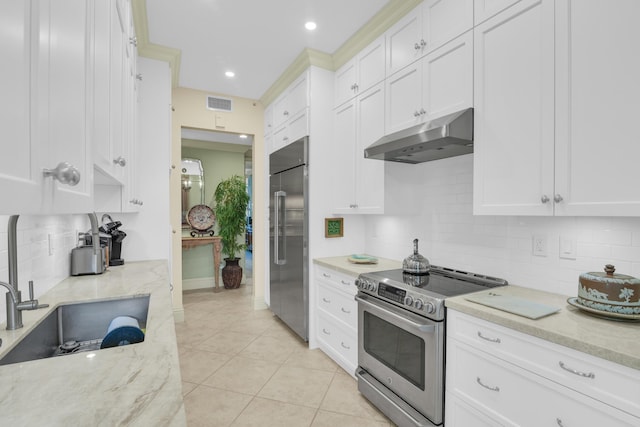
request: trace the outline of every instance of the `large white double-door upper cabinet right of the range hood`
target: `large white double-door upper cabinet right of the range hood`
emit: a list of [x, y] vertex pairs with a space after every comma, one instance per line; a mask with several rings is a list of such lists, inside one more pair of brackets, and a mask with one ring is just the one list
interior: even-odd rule
[[476, 27], [474, 213], [640, 214], [638, 14], [522, 0]]

